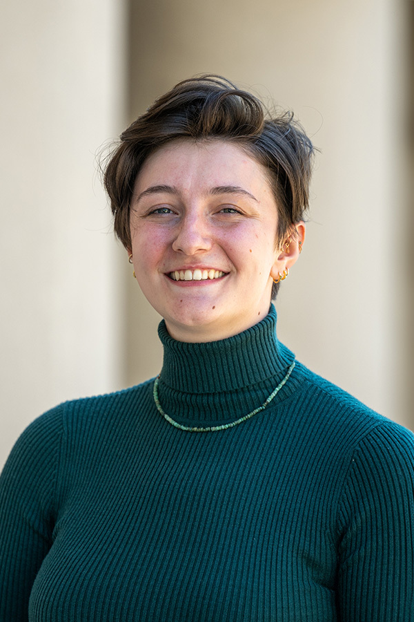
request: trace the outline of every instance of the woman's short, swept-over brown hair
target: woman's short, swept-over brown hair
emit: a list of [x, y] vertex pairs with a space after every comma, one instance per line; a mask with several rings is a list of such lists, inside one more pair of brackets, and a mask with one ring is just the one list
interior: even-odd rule
[[[150, 153], [171, 140], [221, 138], [239, 144], [268, 171], [278, 209], [277, 241], [295, 232], [308, 207], [313, 145], [293, 113], [270, 115], [247, 91], [217, 75], [179, 82], [161, 95], [120, 137], [103, 182], [115, 234], [131, 247], [130, 200]], [[273, 287], [273, 298], [278, 286]]]

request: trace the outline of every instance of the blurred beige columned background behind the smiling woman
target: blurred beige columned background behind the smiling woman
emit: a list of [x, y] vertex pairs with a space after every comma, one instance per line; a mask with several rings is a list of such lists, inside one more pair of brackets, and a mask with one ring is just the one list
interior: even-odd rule
[[320, 150], [279, 338], [414, 428], [413, 35], [413, 0], [3, 2], [0, 464], [48, 408], [158, 373], [98, 154], [198, 73], [292, 109]]

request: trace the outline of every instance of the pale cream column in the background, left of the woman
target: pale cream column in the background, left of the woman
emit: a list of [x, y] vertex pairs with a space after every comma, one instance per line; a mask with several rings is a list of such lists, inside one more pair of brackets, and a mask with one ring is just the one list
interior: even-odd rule
[[121, 9], [2, 4], [0, 464], [34, 417], [121, 382], [118, 252], [95, 165], [124, 124]]

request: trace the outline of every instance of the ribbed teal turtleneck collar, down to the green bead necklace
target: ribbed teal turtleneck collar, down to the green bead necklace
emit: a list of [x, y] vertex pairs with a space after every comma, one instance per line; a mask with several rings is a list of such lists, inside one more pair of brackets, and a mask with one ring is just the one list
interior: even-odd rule
[[221, 341], [186, 343], [158, 328], [164, 346], [159, 402], [181, 423], [228, 422], [260, 406], [279, 384], [294, 355], [277, 340], [276, 311]]

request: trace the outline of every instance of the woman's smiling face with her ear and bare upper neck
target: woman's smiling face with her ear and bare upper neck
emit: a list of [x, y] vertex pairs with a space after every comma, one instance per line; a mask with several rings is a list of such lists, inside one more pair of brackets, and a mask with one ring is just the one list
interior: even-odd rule
[[272, 277], [293, 263], [275, 248], [264, 167], [226, 141], [177, 140], [152, 153], [130, 229], [141, 290], [180, 341], [224, 339], [262, 320]]

